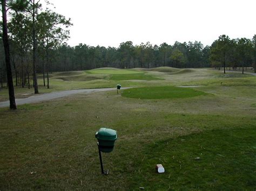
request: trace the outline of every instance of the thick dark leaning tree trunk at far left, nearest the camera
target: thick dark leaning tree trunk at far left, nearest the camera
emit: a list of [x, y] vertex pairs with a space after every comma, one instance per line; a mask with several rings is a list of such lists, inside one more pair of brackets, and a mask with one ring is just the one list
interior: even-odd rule
[[3, 13], [3, 44], [4, 44], [4, 52], [5, 52], [6, 74], [8, 79], [10, 109], [17, 109], [16, 103], [15, 103], [14, 83], [12, 82], [12, 73], [11, 73], [10, 49], [9, 49], [7, 16], [6, 16], [6, 2], [5, 0], [1, 0], [1, 3], [2, 3], [2, 13]]

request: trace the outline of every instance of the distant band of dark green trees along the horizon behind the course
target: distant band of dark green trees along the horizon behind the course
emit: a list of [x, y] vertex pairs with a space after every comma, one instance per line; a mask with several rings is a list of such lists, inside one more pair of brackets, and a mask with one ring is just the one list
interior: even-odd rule
[[[14, 36], [15, 37], [15, 36]], [[56, 39], [55, 39], [56, 40]], [[170, 66], [176, 68], [201, 67], [253, 67], [255, 63], [255, 41], [252, 39], [230, 39], [222, 35], [211, 46], [204, 46], [200, 41], [189, 41], [173, 45], [162, 43], [152, 45], [150, 42], [133, 45], [132, 41], [120, 43], [119, 47], [90, 46], [79, 44], [69, 46], [60, 43], [57, 46], [45, 46], [47, 40], [38, 44], [38, 73], [47, 79], [46, 72], [67, 72], [72, 70], [87, 70], [100, 67], [116, 68], [152, 68]], [[15, 50], [15, 42], [11, 41], [11, 50]], [[42, 43], [42, 44], [41, 44]], [[21, 47], [22, 50], [22, 47]], [[0, 52], [1, 49], [0, 49]], [[12, 70], [14, 70], [16, 86], [24, 86], [22, 66], [25, 62], [25, 76], [32, 77], [32, 65], [29, 62], [31, 52], [25, 55], [12, 55]], [[3, 66], [3, 61], [1, 61]], [[4, 74], [0, 74], [5, 78]], [[44, 79], [44, 77], [43, 77]], [[49, 81], [49, 78], [48, 78]], [[23, 83], [22, 83], [23, 82]], [[25, 80], [29, 82], [29, 80]], [[49, 86], [49, 82], [47, 83]], [[45, 85], [45, 82], [44, 82]]]

